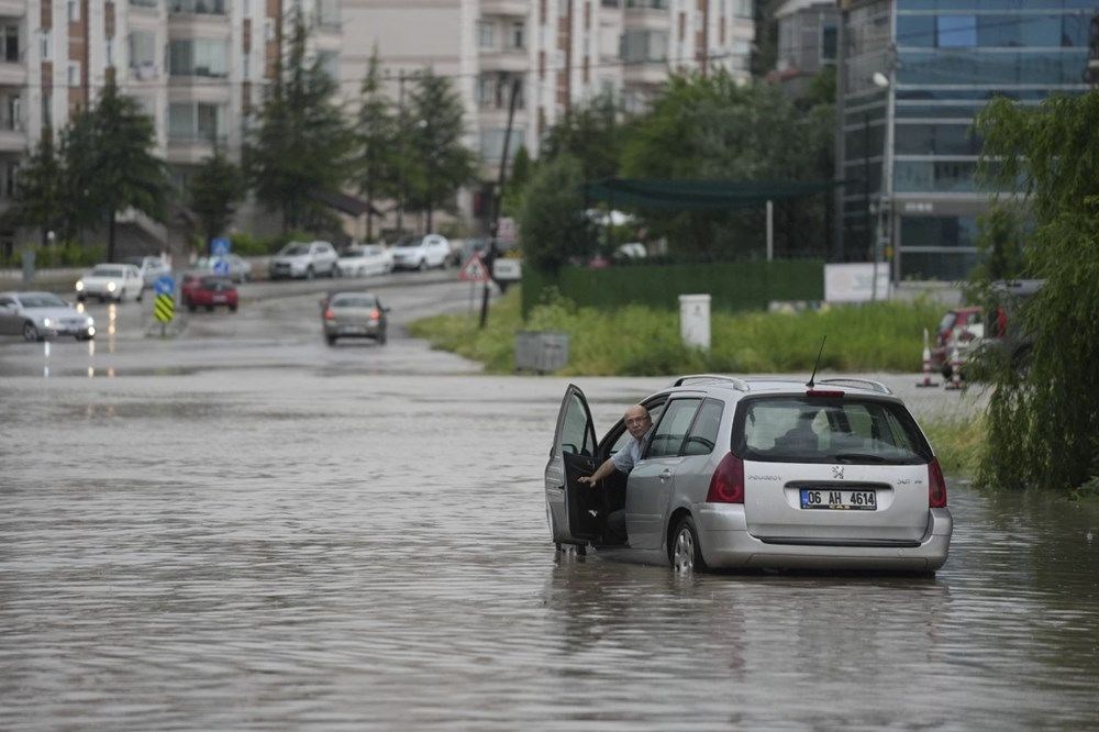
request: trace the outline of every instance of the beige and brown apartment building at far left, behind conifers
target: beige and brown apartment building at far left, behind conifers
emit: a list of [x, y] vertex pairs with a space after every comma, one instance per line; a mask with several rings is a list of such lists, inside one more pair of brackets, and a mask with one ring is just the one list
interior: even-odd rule
[[[311, 53], [335, 76], [338, 0], [0, 0], [0, 209], [43, 130], [56, 134], [109, 77], [153, 118], [156, 153], [180, 189], [214, 144], [238, 159], [299, 9]], [[124, 223], [167, 237], [140, 215]]]

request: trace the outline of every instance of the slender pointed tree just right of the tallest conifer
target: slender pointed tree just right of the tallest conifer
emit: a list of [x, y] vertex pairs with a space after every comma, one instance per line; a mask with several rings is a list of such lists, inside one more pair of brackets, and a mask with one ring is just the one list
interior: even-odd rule
[[392, 101], [381, 91], [378, 49], [370, 56], [363, 79], [358, 110], [358, 190], [370, 208], [366, 212], [366, 237], [374, 239], [374, 202], [400, 195], [399, 126]]

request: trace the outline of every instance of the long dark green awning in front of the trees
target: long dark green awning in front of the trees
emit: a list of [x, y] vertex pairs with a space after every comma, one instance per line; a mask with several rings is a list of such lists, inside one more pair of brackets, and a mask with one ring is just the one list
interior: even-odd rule
[[764, 206], [832, 190], [832, 180], [742, 182], [728, 180], [637, 180], [604, 178], [584, 185], [585, 198], [615, 209], [713, 211]]

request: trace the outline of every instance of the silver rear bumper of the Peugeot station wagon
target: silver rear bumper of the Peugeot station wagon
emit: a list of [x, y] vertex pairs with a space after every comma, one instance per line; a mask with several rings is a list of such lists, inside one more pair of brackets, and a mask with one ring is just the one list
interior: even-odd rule
[[946, 562], [954, 522], [947, 509], [931, 509], [928, 530], [911, 545], [842, 545], [765, 542], [747, 531], [744, 507], [695, 507], [706, 563], [717, 568], [881, 569], [934, 572]]

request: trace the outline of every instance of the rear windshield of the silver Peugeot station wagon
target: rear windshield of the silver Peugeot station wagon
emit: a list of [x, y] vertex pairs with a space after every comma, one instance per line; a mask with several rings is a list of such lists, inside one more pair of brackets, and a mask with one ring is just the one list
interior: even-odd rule
[[857, 397], [746, 399], [735, 452], [774, 463], [917, 465], [931, 448], [901, 404]]

